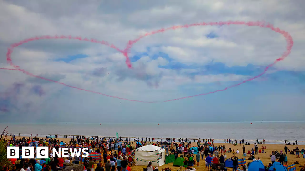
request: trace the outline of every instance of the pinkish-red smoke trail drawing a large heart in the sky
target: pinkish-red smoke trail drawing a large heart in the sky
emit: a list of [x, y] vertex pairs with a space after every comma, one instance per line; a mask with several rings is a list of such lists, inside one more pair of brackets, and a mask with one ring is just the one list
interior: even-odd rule
[[243, 82], [240, 82], [238, 84], [235, 84], [235, 85], [231, 85], [230, 87], [226, 87], [224, 89], [220, 89], [220, 90], [216, 90], [216, 91], [213, 91], [213, 92], [208, 92], [208, 93], [203, 93], [203, 94], [197, 94], [197, 95], [194, 95], [194, 96], [187, 96], [187, 97], [181, 97], [181, 98], [178, 98], [178, 99], [170, 99], [170, 100], [166, 100], [166, 101], [163, 101], [163, 102], [169, 102], [169, 101], [174, 101], [174, 100], [179, 100], [179, 99], [185, 99], [185, 98], [191, 98], [191, 97], [196, 97], [196, 96], [201, 96], [201, 95], [206, 95], [206, 94], [211, 94], [211, 93], [215, 93], [215, 92], [219, 92], [219, 91], [224, 91], [224, 90], [227, 90], [227, 89], [230, 89], [232, 87], [236, 87], [238, 85], [241, 85], [245, 82], [248, 82], [248, 81], [251, 81], [253, 79], [256, 79], [258, 77], [260, 77], [261, 75], [265, 74], [266, 71], [271, 67], [273, 66], [274, 64], [276, 64], [278, 61], [282, 61], [284, 60], [291, 52], [291, 49], [292, 49], [292, 46], [293, 46], [293, 40], [292, 40], [292, 37], [291, 35], [284, 31], [284, 30], [280, 30], [278, 27], [274, 27], [272, 26], [271, 24], [265, 24], [264, 22], [244, 22], [244, 21], [227, 21], [227, 22], [210, 22], [210, 23], [194, 23], [194, 24], [190, 24], [190, 25], [181, 25], [181, 26], [172, 26], [172, 27], [169, 27], [169, 28], [166, 28], [166, 29], [160, 29], [160, 30], [156, 30], [156, 31], [152, 31], [152, 32], [149, 32], [149, 33], [146, 33], [145, 35], [142, 35], [140, 37], [138, 37], [137, 39], [135, 40], [129, 40], [128, 43], [127, 43], [127, 46], [126, 48], [124, 49], [124, 51], [121, 51], [120, 49], [118, 49], [117, 47], [115, 47], [113, 44], [109, 44], [108, 42], [106, 41], [97, 41], [95, 39], [87, 39], [87, 38], [84, 38], [82, 39], [81, 37], [71, 37], [71, 36], [41, 36], [41, 37], [32, 37], [32, 38], [29, 38], [29, 39], [26, 39], [26, 40], [23, 40], [23, 41], [20, 41], [16, 44], [12, 44], [10, 48], [8, 48], [8, 51], [7, 51], [7, 54], [6, 54], [6, 59], [8, 61], [8, 63], [13, 66], [14, 68], [16, 69], [9, 69], [9, 68], [0, 68], [0, 69], [7, 69], [7, 70], [19, 70], [19, 71], [22, 71], [23, 73], [27, 74], [27, 75], [30, 75], [30, 76], [33, 76], [33, 77], [36, 77], [36, 78], [40, 78], [40, 79], [44, 79], [44, 80], [47, 80], [47, 81], [50, 81], [50, 82], [56, 82], [56, 83], [59, 83], [59, 84], [62, 84], [62, 85], [65, 85], [67, 87], [71, 87], [71, 88], [74, 88], [74, 89], [79, 89], [79, 90], [83, 90], [83, 91], [87, 91], [87, 92], [93, 92], [93, 93], [96, 93], [96, 94], [100, 94], [100, 95], [103, 95], [103, 96], [107, 96], [107, 97], [113, 97], [113, 98], [118, 98], [118, 99], [122, 99], [122, 100], [129, 100], [129, 101], [135, 101], [135, 102], [143, 102], [143, 103], [156, 103], [156, 102], [145, 102], [145, 101], [139, 101], [139, 100], [131, 100], [131, 99], [125, 99], [125, 98], [120, 98], [120, 97], [117, 97], [117, 96], [109, 96], [109, 95], [106, 95], [106, 94], [103, 94], [103, 93], [100, 93], [100, 92], [94, 92], [94, 91], [91, 91], [91, 90], [86, 90], [86, 89], [81, 89], [81, 88], [78, 88], [78, 87], [74, 87], [74, 86], [71, 86], [71, 85], [66, 85], [65, 83], [62, 83], [62, 82], [57, 82], [57, 81], [54, 81], [54, 80], [50, 80], [50, 79], [46, 79], [46, 78], [43, 78], [43, 77], [40, 77], [40, 76], [37, 76], [37, 75], [33, 75], [23, 69], [20, 69], [20, 67], [18, 65], [14, 65], [13, 62], [12, 62], [12, 59], [11, 59], [11, 54], [13, 52], [13, 49], [15, 47], [18, 47], [24, 43], [27, 43], [29, 41], [34, 41], [34, 40], [41, 40], [41, 39], [74, 39], [74, 40], [82, 40], [82, 41], [90, 41], [92, 43], [99, 43], [99, 44], [103, 44], [103, 45], [106, 45], [106, 46], [109, 46], [113, 49], [116, 49], [117, 51], [120, 51], [122, 54], [124, 54], [124, 56], [126, 57], [126, 65], [128, 66], [128, 68], [132, 68], [132, 65], [131, 65], [131, 62], [130, 62], [130, 59], [128, 57], [128, 52], [130, 51], [131, 47], [133, 46], [133, 44], [135, 44], [136, 42], [138, 42], [139, 40], [141, 40], [142, 38], [144, 37], [147, 37], [149, 35], [153, 35], [153, 34], [157, 34], [157, 33], [163, 33], [165, 31], [168, 31], [168, 30], [176, 30], [176, 29], [181, 29], [181, 28], [188, 28], [188, 27], [193, 27], [193, 26], [222, 26], [222, 25], [246, 25], [246, 26], [260, 26], [260, 27], [264, 27], [264, 28], [269, 28], [277, 33], [280, 33], [282, 34], [285, 38], [286, 38], [286, 41], [287, 41], [287, 46], [286, 46], [286, 51], [283, 52], [282, 56], [278, 59], [276, 59], [272, 64], [268, 65], [265, 69], [264, 69], [264, 72], [260, 73], [259, 75], [253, 77], [253, 78], [250, 78], [250, 79], [247, 79], [247, 80], [244, 80]]

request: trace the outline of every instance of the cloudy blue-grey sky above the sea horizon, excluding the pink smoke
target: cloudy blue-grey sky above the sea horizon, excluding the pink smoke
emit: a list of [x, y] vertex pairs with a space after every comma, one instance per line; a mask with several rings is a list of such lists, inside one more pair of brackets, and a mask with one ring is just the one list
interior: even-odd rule
[[[305, 120], [305, 6], [303, 0], [0, 0], [0, 68], [14, 68], [11, 44], [43, 35], [79, 40], [34, 40], [13, 49], [17, 70], [0, 70], [0, 122], [223, 122]], [[202, 22], [264, 21], [194, 26], [129, 40], [162, 28]], [[112, 46], [113, 47], [113, 46]], [[56, 82], [64, 83], [65, 85]], [[77, 87], [77, 88], [75, 88]], [[80, 89], [99, 92], [88, 92]], [[142, 103], [128, 101], [150, 101]]]

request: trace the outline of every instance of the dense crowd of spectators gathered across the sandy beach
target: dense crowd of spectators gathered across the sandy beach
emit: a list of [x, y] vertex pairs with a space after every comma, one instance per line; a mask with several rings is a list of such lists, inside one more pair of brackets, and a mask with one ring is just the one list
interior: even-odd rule
[[[135, 150], [140, 148], [141, 146], [152, 144], [164, 148], [166, 151], [166, 155], [174, 154], [175, 159], [180, 157], [184, 158], [184, 165], [181, 166], [178, 171], [195, 171], [196, 166], [200, 166], [200, 160], [204, 160], [205, 168], [207, 170], [217, 169], [217, 170], [225, 170], [224, 163], [227, 159], [226, 153], [231, 153], [233, 156], [231, 160], [233, 162], [233, 171], [247, 171], [247, 165], [238, 165], [238, 157], [235, 154], [239, 154], [239, 150], [232, 150], [231, 148], [226, 148], [226, 143], [238, 145], [237, 140], [225, 139], [224, 145], [214, 145], [213, 139], [198, 139], [197, 140], [197, 149], [198, 152], [194, 153], [194, 146], [191, 145], [192, 141], [187, 138], [178, 138], [176, 142], [176, 138], [163, 138], [154, 141], [155, 138], [135, 138], [134, 142], [130, 140], [130, 138], [106, 138], [106, 137], [85, 137], [85, 136], [73, 136], [69, 142], [65, 143], [63, 141], [59, 141], [55, 138], [41, 138], [36, 135], [35, 137], [29, 138], [16, 138], [15, 135], [12, 136], [11, 139], [7, 140], [8, 146], [34, 146], [34, 151], [36, 153], [37, 146], [48, 146], [49, 147], [49, 156], [47, 159], [11, 159], [11, 166], [7, 166], [3, 168], [3, 171], [58, 171], [64, 169], [65, 166], [69, 163], [74, 164], [83, 164], [84, 171], [91, 171], [93, 168], [95, 171], [131, 171], [134, 165], [135, 159]], [[67, 138], [68, 136], [64, 136]], [[150, 141], [152, 140], [152, 141]], [[195, 139], [193, 139], [195, 142]], [[139, 142], [139, 143], [137, 143]], [[265, 139], [262, 140], [265, 143]], [[203, 144], [201, 144], [203, 143]], [[245, 145], [249, 145], [249, 142], [244, 142], [244, 140], [239, 141], [240, 146], [242, 144], [242, 156], [248, 156], [248, 160], [260, 160], [260, 158], [255, 158], [255, 155], [259, 153], [265, 153], [266, 146], [261, 146], [258, 149], [258, 144], [261, 144], [257, 140], [257, 143], [254, 144], [254, 147], [249, 149], [246, 152]], [[102, 160], [95, 161], [91, 157], [77, 157], [72, 156], [69, 153], [68, 158], [63, 158], [60, 156], [53, 156], [52, 148], [58, 149], [59, 147], [89, 147], [89, 153], [102, 153]], [[289, 154], [296, 152], [297, 157], [301, 152], [303, 158], [305, 158], [304, 149], [299, 150], [297, 147], [295, 150], [290, 151], [287, 146], [283, 151], [272, 151], [270, 158], [271, 163], [266, 166], [266, 168], [270, 167], [276, 159], [278, 162], [287, 166], [287, 152]], [[36, 154], [34, 154], [36, 156]], [[249, 163], [248, 163], [249, 164]], [[144, 169], [147, 171], [159, 171], [158, 167], [153, 167], [152, 163], [149, 162], [148, 166]], [[171, 171], [171, 168], [160, 169], [161, 171]]]

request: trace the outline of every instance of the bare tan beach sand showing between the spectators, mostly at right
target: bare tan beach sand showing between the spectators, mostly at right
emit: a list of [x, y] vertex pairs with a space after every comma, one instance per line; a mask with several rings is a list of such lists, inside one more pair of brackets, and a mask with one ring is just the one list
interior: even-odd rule
[[[8, 138], [11, 138], [11, 137], [8, 136]], [[18, 137], [16, 136], [16, 138], [18, 138]], [[57, 138], [57, 139], [59, 139], [59, 141], [63, 141], [63, 142], [66, 142], [66, 143], [70, 141], [69, 138]], [[135, 142], [134, 142], [134, 145], [135, 145]], [[249, 155], [247, 157], [243, 157], [242, 156], [242, 145], [241, 146], [239, 146], [239, 145], [238, 146], [234, 146], [234, 145], [231, 145], [231, 144], [223, 144], [223, 143], [215, 143], [214, 145], [215, 146], [225, 145], [226, 149], [231, 148], [232, 150], [234, 149], [234, 151], [239, 150], [240, 153], [239, 154], [235, 154], [239, 159], [242, 159], [242, 158], [248, 159], [248, 157], [249, 157]], [[196, 143], [192, 143], [192, 146], [196, 146]], [[259, 149], [261, 148], [261, 146], [262, 145], [258, 145]], [[267, 148], [267, 149], [264, 149], [264, 151], [266, 153], [264, 153], [264, 154], [259, 153], [259, 154], [255, 155], [255, 158], [259, 157], [262, 160], [262, 162], [264, 163], [265, 166], [267, 166], [269, 163], [271, 163], [270, 154], [271, 154], [272, 151], [275, 151], [275, 150], [281, 151], [281, 150], [283, 150], [283, 152], [284, 152], [284, 147], [285, 147], [285, 145], [281, 145], [281, 144], [264, 144], [264, 146], [266, 146], [266, 148]], [[253, 144], [245, 145], [245, 147], [246, 147], [246, 152], [247, 152], [248, 150], [251, 151], [251, 148], [254, 148], [254, 145]], [[305, 148], [305, 145], [297, 145], [297, 146], [296, 145], [288, 145], [287, 147], [290, 150], [292, 150], [292, 149], [294, 149], [296, 147], [299, 147], [299, 149], [301, 150], [302, 148]], [[233, 156], [232, 153], [226, 153], [226, 155], [227, 155], [227, 158], [231, 158]], [[303, 159], [302, 157], [303, 156], [300, 155], [300, 159], [299, 159], [299, 158], [296, 158], [296, 155], [288, 154], [287, 155], [288, 165], [291, 165], [291, 164], [293, 164], [293, 162], [298, 161], [300, 164], [296, 165], [296, 170], [300, 170], [299, 166], [300, 165], [304, 166], [304, 164], [305, 164], [305, 159]], [[201, 159], [201, 157], [200, 157], [200, 159]], [[246, 162], [248, 163], [248, 162], [251, 162], [251, 161], [250, 160], [246, 160]], [[132, 171], [143, 171], [144, 167], [145, 166], [132, 166], [131, 170]], [[167, 167], [171, 168], [172, 171], [178, 170], [178, 167], [173, 167], [173, 163], [169, 163], [169, 164], [160, 166], [159, 170], [161, 170], [162, 168], [167, 168]], [[205, 170], [205, 161], [200, 160], [200, 167], [194, 166], [194, 168], [196, 170]], [[232, 170], [232, 169], [228, 168], [228, 170]]]

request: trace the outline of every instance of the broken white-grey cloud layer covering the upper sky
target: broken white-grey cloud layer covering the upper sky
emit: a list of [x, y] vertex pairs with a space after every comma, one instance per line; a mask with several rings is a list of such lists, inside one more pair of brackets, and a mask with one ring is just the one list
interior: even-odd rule
[[[0, 67], [9, 67], [5, 61], [5, 54], [10, 44], [36, 35], [58, 34], [95, 38], [108, 41], [124, 50], [128, 40], [173, 25], [227, 20], [265, 20], [288, 31], [295, 40], [292, 53], [275, 67], [304, 71], [303, 1], [261, 0], [232, 3], [156, 0], [129, 3], [120, 6], [114, 1], [98, 0], [67, 0], [65, 3], [56, 0], [52, 3], [34, 0], [0, 1], [0, 53], [3, 57], [0, 59]], [[286, 8], [291, 10], [287, 11]], [[206, 34], [212, 31], [218, 37], [206, 38]], [[147, 55], [133, 62], [133, 69], [127, 68], [126, 57], [117, 50], [78, 40], [32, 41], [15, 48], [12, 59], [15, 64], [35, 75], [54, 77], [68, 85], [128, 99], [162, 100], [184, 96], [186, 93], [181, 92], [181, 86], [201, 90], [204, 87], [202, 84], [230, 83], [247, 79], [249, 76], [204, 75], [205, 73], [198, 68], [172, 70], [159, 68], [160, 65], [165, 66], [170, 62], [204, 65], [213, 61], [229, 67], [248, 64], [265, 66], [279, 58], [285, 51], [285, 46], [286, 42], [282, 35], [266, 28], [196, 26], [158, 33], [135, 43], [130, 49], [129, 56], [141, 52], [146, 52]], [[160, 51], [168, 54], [173, 61], [159, 55]], [[87, 54], [88, 58], [76, 59], [70, 63], [53, 60], [76, 54]], [[192, 75], [197, 72], [200, 74]], [[14, 82], [26, 82], [29, 86], [34, 84], [29, 81], [28, 76], [19, 71], [0, 71], [0, 77], [5, 80], [0, 83], [0, 90], [3, 91]], [[69, 93], [77, 92], [70, 88], [66, 90], [66, 87], [56, 83], [43, 84], [46, 96], [39, 99], [32, 97], [31, 102], [40, 101], [38, 104], [42, 104], [50, 100], [50, 103], [56, 104], [56, 97], [52, 94], [64, 96], [61, 92], [63, 89], [67, 96], [71, 95]], [[80, 94], [80, 98], [95, 96], [77, 93]], [[20, 95], [20, 99], [26, 101], [26, 95]]]

